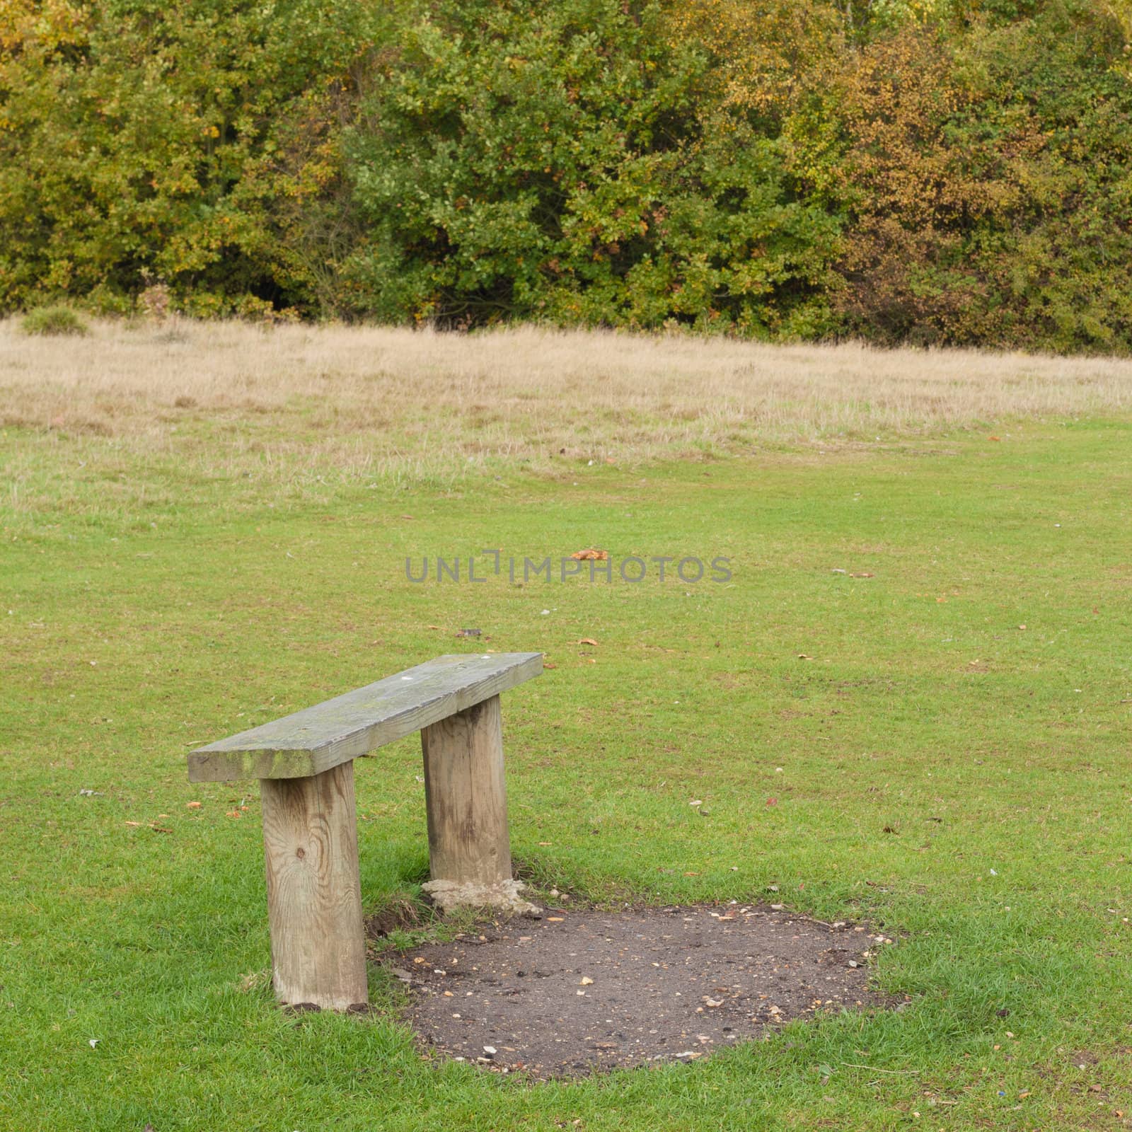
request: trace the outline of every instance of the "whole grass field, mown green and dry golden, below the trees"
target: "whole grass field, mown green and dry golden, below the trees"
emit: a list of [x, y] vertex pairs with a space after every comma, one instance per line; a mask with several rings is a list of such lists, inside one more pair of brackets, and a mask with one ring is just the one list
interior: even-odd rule
[[[1132, 1126], [1132, 367], [277, 333], [0, 328], [0, 1127]], [[732, 577], [480, 556], [588, 547]], [[902, 1009], [535, 1086], [422, 1060], [376, 964], [371, 1017], [280, 1012], [256, 786], [186, 753], [465, 627], [548, 661], [525, 876], [865, 919]], [[367, 909], [427, 878], [420, 773], [357, 766]]]

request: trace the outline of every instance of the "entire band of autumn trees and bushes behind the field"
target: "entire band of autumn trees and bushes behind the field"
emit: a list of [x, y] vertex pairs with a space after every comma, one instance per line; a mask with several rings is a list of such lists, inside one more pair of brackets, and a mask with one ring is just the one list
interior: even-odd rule
[[0, 0], [0, 311], [1132, 350], [1130, 0]]

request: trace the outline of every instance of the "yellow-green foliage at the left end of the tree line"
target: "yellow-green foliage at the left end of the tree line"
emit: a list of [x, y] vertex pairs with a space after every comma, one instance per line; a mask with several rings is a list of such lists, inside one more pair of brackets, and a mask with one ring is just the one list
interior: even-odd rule
[[7, 0], [0, 309], [132, 292], [144, 269], [220, 312], [290, 298], [276, 125], [344, 74], [371, 24], [354, 0]]

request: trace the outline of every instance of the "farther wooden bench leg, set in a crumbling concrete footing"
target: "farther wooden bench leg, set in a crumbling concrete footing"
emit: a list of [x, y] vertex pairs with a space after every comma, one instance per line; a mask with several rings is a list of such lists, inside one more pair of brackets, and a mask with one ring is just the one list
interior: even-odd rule
[[511, 880], [499, 697], [421, 730], [434, 881]]

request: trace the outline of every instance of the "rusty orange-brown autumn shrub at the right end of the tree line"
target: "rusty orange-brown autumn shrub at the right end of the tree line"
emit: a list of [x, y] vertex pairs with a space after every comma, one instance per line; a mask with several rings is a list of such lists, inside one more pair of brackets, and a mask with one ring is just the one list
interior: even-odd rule
[[[1132, 84], [1084, 5], [903, 29], [831, 84], [847, 327], [918, 342], [1132, 351]], [[826, 155], [829, 157], [829, 155]]]

